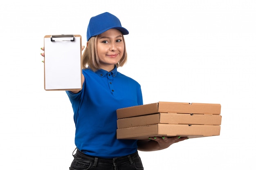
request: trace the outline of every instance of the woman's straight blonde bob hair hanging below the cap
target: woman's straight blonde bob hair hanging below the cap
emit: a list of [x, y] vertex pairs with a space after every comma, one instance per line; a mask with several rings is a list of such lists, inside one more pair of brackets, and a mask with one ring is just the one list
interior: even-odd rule
[[[117, 62], [116, 64], [117, 67], [124, 66], [124, 64], [127, 62], [127, 52], [126, 52], [124, 35], [122, 35], [122, 37], [124, 42], [124, 55], [121, 57], [121, 60]], [[83, 52], [83, 55], [82, 55], [82, 68], [90, 67], [90, 69], [94, 72], [101, 69], [99, 67], [97, 40], [98, 40], [98, 35], [91, 37], [90, 40], [88, 40], [88, 45], [86, 46], [85, 51]]]

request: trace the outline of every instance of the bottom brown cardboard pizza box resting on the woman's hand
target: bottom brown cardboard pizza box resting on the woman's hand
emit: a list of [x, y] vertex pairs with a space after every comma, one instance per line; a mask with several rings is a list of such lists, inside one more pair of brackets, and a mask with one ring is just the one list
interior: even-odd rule
[[117, 129], [117, 139], [148, 139], [148, 137], [207, 137], [220, 135], [218, 125], [154, 124]]

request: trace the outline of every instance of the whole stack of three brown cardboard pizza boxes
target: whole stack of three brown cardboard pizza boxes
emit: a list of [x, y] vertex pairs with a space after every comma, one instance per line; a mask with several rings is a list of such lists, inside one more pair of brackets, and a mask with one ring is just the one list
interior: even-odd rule
[[158, 102], [117, 110], [117, 139], [220, 135], [220, 104]]

